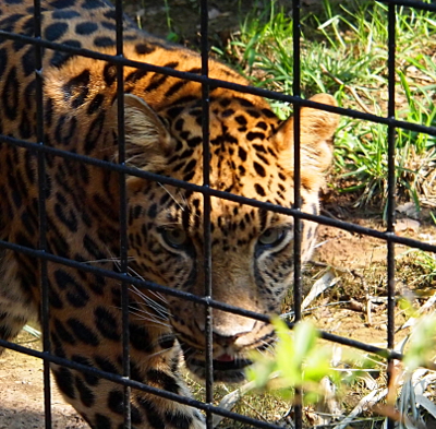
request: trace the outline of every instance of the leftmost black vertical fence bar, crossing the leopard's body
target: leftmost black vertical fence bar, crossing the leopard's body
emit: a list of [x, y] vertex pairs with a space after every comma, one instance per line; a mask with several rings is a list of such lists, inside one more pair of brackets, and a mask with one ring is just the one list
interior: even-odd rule
[[[34, 0], [35, 38], [41, 38], [41, 5], [40, 0]], [[44, 145], [44, 93], [43, 93], [43, 48], [35, 45], [35, 103], [36, 103], [36, 139]], [[47, 214], [46, 214], [46, 156], [38, 152], [38, 221], [39, 221], [39, 250], [47, 251]], [[41, 290], [41, 325], [43, 348], [45, 354], [50, 354], [50, 325], [49, 325], [49, 293], [47, 261], [39, 260], [40, 290]], [[44, 359], [44, 412], [46, 429], [51, 429], [51, 386], [50, 362]]]

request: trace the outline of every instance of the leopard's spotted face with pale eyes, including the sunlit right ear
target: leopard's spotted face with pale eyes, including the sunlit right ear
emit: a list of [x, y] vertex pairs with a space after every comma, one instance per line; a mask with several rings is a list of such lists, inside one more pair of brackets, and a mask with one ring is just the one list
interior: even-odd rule
[[[332, 99], [320, 96], [320, 103]], [[136, 102], [134, 102], [136, 103]], [[135, 104], [134, 110], [140, 108]], [[129, 110], [129, 107], [126, 107]], [[161, 112], [153, 147], [153, 171], [203, 183], [202, 112], [197, 106]], [[301, 111], [302, 210], [316, 214], [323, 169], [330, 158], [334, 115]], [[128, 133], [131, 126], [128, 123]], [[133, 131], [134, 133], [134, 131]], [[268, 110], [240, 100], [218, 100], [211, 107], [210, 187], [291, 207], [293, 159], [291, 121], [280, 123]], [[128, 136], [131, 139], [131, 136]], [[135, 159], [135, 152], [132, 153]], [[137, 160], [137, 159], [136, 159]], [[150, 169], [146, 158], [142, 168]], [[156, 165], [159, 168], [156, 168]], [[130, 257], [135, 272], [161, 285], [197, 296], [205, 294], [204, 198], [156, 182], [130, 178]], [[313, 249], [316, 225], [303, 222], [302, 259]], [[215, 300], [262, 314], [280, 312], [292, 286], [293, 218], [223, 199], [210, 199], [211, 290]], [[205, 309], [189, 300], [166, 297], [170, 322], [187, 367], [205, 374]], [[213, 310], [214, 379], [240, 381], [250, 364], [246, 351], [267, 347], [269, 324]]]

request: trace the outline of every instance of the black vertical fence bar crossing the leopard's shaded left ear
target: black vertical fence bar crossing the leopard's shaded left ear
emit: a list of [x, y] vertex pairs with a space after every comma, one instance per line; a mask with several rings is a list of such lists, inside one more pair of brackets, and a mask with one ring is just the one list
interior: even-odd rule
[[[123, 57], [123, 8], [122, 1], [116, 1], [117, 25], [117, 57]], [[118, 107], [118, 162], [125, 164], [125, 129], [124, 129], [124, 68], [117, 64], [117, 107]], [[120, 270], [128, 274], [128, 195], [125, 188], [125, 175], [119, 174], [120, 192]], [[121, 283], [122, 308], [122, 357], [123, 377], [130, 378], [130, 332], [129, 332], [129, 283]], [[130, 429], [131, 421], [131, 388], [124, 385], [124, 429]]]

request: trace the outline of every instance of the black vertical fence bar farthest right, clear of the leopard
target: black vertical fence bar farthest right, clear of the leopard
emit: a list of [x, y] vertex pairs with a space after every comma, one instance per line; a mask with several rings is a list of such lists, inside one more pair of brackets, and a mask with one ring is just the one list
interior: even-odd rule
[[[396, 4], [388, 4], [388, 117], [395, 119], [396, 107], [395, 107], [395, 82], [396, 82]], [[395, 154], [396, 154], [396, 129], [393, 126], [388, 127], [388, 201], [387, 201], [387, 230], [390, 234], [395, 234], [395, 205], [396, 205], [396, 166], [395, 166]], [[388, 306], [387, 306], [387, 318], [388, 318], [388, 332], [387, 332], [387, 344], [388, 348], [395, 346], [395, 243], [393, 241], [387, 241], [387, 293], [388, 293]], [[393, 379], [393, 360], [388, 361], [388, 385]], [[388, 420], [388, 429], [393, 429], [395, 421]]]

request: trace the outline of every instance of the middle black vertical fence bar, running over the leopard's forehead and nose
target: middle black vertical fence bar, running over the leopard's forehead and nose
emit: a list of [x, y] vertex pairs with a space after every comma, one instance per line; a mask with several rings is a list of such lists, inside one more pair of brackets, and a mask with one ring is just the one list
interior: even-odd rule
[[[208, 47], [208, 7], [207, 0], [201, 1], [201, 31], [202, 31], [202, 75], [209, 74], [209, 47]], [[203, 129], [203, 184], [209, 186], [209, 85], [202, 84], [202, 129]], [[210, 195], [203, 194], [203, 227], [204, 227], [204, 294], [211, 298], [211, 250], [210, 250]], [[213, 310], [205, 307], [205, 341], [206, 341], [206, 402], [214, 402], [214, 362], [213, 362]], [[213, 429], [213, 414], [206, 412], [206, 427]]]

